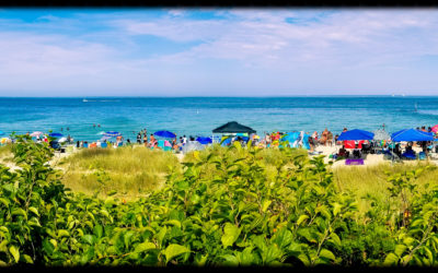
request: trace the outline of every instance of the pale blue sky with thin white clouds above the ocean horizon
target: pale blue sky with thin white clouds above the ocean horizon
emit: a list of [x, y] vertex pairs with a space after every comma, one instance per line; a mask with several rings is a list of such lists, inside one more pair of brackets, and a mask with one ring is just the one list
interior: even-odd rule
[[0, 96], [438, 95], [438, 9], [0, 9]]

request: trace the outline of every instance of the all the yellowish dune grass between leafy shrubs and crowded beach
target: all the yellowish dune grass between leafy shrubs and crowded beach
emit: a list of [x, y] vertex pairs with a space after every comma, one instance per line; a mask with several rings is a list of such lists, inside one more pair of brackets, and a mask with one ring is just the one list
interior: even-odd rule
[[[214, 145], [205, 151], [189, 152], [183, 162], [195, 162], [195, 157], [206, 162], [209, 153], [222, 154], [226, 149]], [[292, 156], [307, 156], [306, 150], [292, 150]], [[239, 153], [232, 152], [231, 161], [239, 158]], [[285, 154], [276, 149], [262, 150], [258, 153], [261, 165], [266, 169], [266, 176], [275, 178], [276, 166], [284, 161]], [[380, 164], [369, 167], [334, 168], [334, 181], [341, 191], [353, 191], [357, 195], [359, 214], [370, 206], [367, 197], [373, 197], [379, 203], [393, 202], [390, 198], [388, 176], [410, 171], [420, 167], [429, 167], [416, 179], [419, 190], [426, 183], [436, 182], [438, 167], [434, 164]], [[73, 191], [105, 198], [110, 192], [126, 200], [134, 200], [157, 190], [165, 182], [165, 176], [171, 170], [182, 174], [183, 166], [177, 157], [169, 152], [151, 151], [143, 147], [122, 147], [107, 150], [83, 150], [62, 162], [65, 169], [64, 182]], [[217, 174], [215, 164], [205, 164], [204, 178], [212, 179]]]

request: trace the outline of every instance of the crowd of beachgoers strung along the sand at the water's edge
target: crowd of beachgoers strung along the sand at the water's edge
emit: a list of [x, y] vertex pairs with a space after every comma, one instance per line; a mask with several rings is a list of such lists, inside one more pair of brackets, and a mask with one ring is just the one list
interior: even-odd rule
[[[93, 124], [93, 128], [100, 128], [101, 124]], [[416, 128], [418, 131], [424, 131], [424, 132], [431, 132], [433, 128], [428, 127], [426, 129], [426, 126], [423, 127], [417, 127]], [[61, 131], [64, 129], [61, 128]], [[69, 131], [69, 128], [66, 128], [67, 131]], [[342, 132], [348, 131], [347, 128], [344, 128]], [[384, 131], [384, 124], [383, 124], [383, 131]], [[136, 143], [138, 145], [143, 145], [149, 149], [155, 149], [155, 150], [165, 150], [165, 151], [174, 151], [174, 152], [180, 152], [183, 150], [183, 146], [187, 144], [187, 142], [195, 142], [194, 136], [187, 138], [186, 135], [181, 135], [181, 136], [174, 136], [166, 140], [160, 140], [157, 139], [157, 136], [153, 133], [148, 134], [148, 130], [145, 128], [140, 130], [139, 132], [136, 133], [136, 131], [132, 132], [134, 134], [137, 134], [136, 136]], [[313, 133], [310, 132], [296, 132], [299, 133], [299, 136], [297, 138], [296, 143], [288, 143], [287, 145], [289, 146], [296, 146], [296, 147], [306, 147], [309, 150], [310, 154], [319, 154], [321, 152], [316, 152], [315, 149], [318, 146], [336, 146], [339, 147], [338, 151], [331, 156], [333, 158], [348, 158], [350, 155], [353, 157], [360, 158], [362, 154], [368, 154], [368, 153], [374, 153], [376, 150], [374, 147], [379, 147], [380, 151], [391, 151], [391, 153], [397, 155], [399, 157], [402, 156], [413, 156], [415, 157], [415, 151], [413, 147], [418, 146], [422, 149], [423, 153], [427, 156], [428, 153], [435, 147], [435, 152], [438, 153], [438, 146], [434, 146], [434, 143], [431, 141], [418, 141], [418, 142], [405, 142], [402, 146], [401, 143], [394, 143], [391, 142], [390, 140], [382, 140], [382, 141], [339, 141], [339, 134], [334, 134], [331, 132], [327, 128], [325, 128], [321, 133], [318, 131], [314, 131]], [[30, 132], [27, 132], [30, 134]], [[255, 133], [238, 133], [238, 134], [229, 134], [227, 138], [229, 138], [229, 141], [223, 142], [222, 145], [231, 145], [233, 142], [239, 141], [242, 144], [246, 144], [250, 140], [252, 141], [253, 146], [257, 146], [260, 149], [265, 149], [265, 147], [278, 147], [283, 145], [283, 136], [286, 134], [289, 134], [287, 132], [265, 132], [264, 136], [261, 138], [260, 135]], [[436, 136], [438, 136], [436, 134]], [[212, 139], [212, 138], [211, 138]], [[304, 141], [306, 139], [306, 141]], [[113, 139], [114, 140], [114, 139]], [[223, 140], [223, 136], [222, 136]], [[42, 135], [36, 135], [35, 136], [36, 142], [48, 142], [50, 146], [55, 149], [60, 149], [61, 145], [57, 143], [56, 141], [51, 141], [48, 139], [47, 134], [42, 134]], [[66, 143], [68, 144], [73, 144], [73, 139], [70, 136], [70, 134], [67, 136], [65, 140]], [[219, 142], [217, 139], [211, 141], [211, 142]], [[304, 145], [306, 142], [306, 145]], [[160, 144], [159, 144], [160, 143]], [[76, 146], [78, 149], [81, 147], [118, 147], [123, 145], [132, 145], [134, 143], [130, 141], [130, 139], [126, 139], [123, 135], [117, 135], [115, 136], [115, 142], [110, 141], [110, 139], [101, 139], [95, 142], [89, 143], [88, 141], [76, 141]], [[164, 149], [165, 147], [165, 149]], [[404, 149], [404, 151], [403, 151]], [[336, 149], [337, 150], [337, 149]]]

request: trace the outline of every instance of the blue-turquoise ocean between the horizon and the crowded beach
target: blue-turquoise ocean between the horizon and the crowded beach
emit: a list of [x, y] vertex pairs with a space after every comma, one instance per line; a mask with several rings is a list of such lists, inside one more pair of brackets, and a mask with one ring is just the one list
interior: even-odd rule
[[137, 132], [145, 128], [148, 134], [168, 130], [178, 136], [207, 136], [228, 121], [249, 126], [258, 134], [301, 130], [321, 133], [325, 128], [336, 134], [344, 127], [374, 131], [383, 123], [387, 131], [395, 132], [438, 123], [438, 96], [87, 97], [87, 100], [0, 97], [0, 131], [10, 134], [51, 130], [70, 134], [74, 141], [96, 141], [102, 132], [118, 131], [135, 141]]

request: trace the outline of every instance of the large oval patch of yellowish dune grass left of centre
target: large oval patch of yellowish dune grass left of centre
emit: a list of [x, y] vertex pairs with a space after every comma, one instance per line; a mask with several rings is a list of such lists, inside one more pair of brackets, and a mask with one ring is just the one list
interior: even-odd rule
[[61, 162], [62, 181], [72, 191], [132, 200], [159, 189], [171, 169], [181, 169], [172, 153], [145, 147], [90, 149]]

